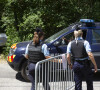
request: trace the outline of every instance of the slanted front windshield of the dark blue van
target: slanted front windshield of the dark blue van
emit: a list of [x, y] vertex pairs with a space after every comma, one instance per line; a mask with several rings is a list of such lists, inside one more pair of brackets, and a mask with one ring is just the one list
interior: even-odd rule
[[54, 35], [50, 36], [49, 38], [47, 38], [45, 40], [45, 43], [51, 43], [53, 42], [55, 39], [57, 39], [59, 36], [61, 36], [62, 34], [66, 33], [69, 30], [69, 28], [65, 28], [61, 31], [59, 31], [58, 33], [55, 33]]

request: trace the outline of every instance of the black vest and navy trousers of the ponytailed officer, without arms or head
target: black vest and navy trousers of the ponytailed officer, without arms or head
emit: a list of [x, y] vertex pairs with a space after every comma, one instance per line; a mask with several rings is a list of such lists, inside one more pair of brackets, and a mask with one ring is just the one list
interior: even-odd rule
[[[28, 57], [29, 57], [29, 65], [28, 65], [28, 69], [29, 69], [29, 79], [32, 82], [32, 88], [31, 90], [35, 90], [35, 65], [38, 61], [40, 60], [44, 60], [45, 56], [42, 53], [42, 49], [41, 49], [42, 45], [37, 44], [34, 45], [33, 42], [31, 42], [29, 44], [28, 47]], [[44, 67], [45, 65], [43, 65]], [[45, 67], [44, 67], [45, 69]], [[50, 86], [47, 83], [47, 78], [45, 78], [45, 74], [43, 74], [43, 86], [45, 90], [50, 90]], [[47, 74], [46, 74], [47, 75]], [[45, 80], [46, 79], [46, 80]]]

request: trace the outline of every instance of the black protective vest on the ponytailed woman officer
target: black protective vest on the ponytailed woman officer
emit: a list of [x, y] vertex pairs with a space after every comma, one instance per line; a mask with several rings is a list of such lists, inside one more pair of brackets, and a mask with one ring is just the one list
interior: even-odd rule
[[33, 42], [31, 42], [28, 46], [28, 58], [29, 62], [38, 62], [43, 59], [45, 59], [44, 54], [42, 53], [42, 45], [34, 45]]

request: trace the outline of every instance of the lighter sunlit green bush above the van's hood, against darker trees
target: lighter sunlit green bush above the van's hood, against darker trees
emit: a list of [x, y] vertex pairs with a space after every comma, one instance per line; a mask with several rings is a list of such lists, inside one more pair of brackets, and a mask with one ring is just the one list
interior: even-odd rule
[[9, 15], [2, 17], [2, 28], [5, 28], [7, 35], [7, 43], [6, 47], [4, 47], [4, 53], [8, 54], [9, 49], [12, 44], [31, 40], [33, 38], [33, 32], [36, 27], [44, 27], [43, 22], [41, 20], [41, 13], [37, 12], [32, 13], [30, 15], [24, 14], [22, 19], [23, 22], [20, 22], [16, 28], [15, 19], [13, 18], [13, 13], [11, 12]]

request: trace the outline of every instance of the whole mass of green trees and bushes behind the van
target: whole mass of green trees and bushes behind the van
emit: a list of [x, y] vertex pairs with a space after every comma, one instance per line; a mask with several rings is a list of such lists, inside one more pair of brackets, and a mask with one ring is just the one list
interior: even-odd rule
[[100, 21], [100, 0], [0, 0], [0, 32], [13, 43], [30, 40], [36, 27], [50, 35], [82, 18]]

